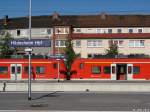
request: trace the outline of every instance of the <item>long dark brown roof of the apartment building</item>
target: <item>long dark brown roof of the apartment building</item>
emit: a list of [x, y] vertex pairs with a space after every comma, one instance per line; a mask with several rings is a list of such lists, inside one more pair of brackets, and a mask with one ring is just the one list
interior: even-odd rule
[[[9, 29], [28, 28], [28, 17], [8, 18]], [[2, 28], [4, 19], [0, 19]], [[59, 15], [59, 19], [53, 16], [33, 16], [33, 28], [48, 28], [57, 26], [70, 26], [76, 28], [86, 27], [150, 27], [150, 15]]]

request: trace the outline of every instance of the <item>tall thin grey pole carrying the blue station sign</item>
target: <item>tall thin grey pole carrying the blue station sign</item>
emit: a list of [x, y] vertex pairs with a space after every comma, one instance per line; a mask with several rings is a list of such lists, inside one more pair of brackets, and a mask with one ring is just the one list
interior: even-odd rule
[[[32, 8], [32, 0], [29, 0], [29, 40], [31, 40], [31, 8]], [[28, 52], [29, 55], [29, 67], [28, 67], [28, 100], [31, 100], [31, 52], [32, 49], [28, 48], [26, 49], [26, 52]]]

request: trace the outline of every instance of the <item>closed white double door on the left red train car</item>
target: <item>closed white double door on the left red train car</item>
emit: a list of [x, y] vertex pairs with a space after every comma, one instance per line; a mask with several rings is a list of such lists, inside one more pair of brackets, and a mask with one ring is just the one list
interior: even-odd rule
[[10, 76], [11, 76], [11, 80], [21, 80], [22, 65], [21, 64], [11, 64], [10, 65]]

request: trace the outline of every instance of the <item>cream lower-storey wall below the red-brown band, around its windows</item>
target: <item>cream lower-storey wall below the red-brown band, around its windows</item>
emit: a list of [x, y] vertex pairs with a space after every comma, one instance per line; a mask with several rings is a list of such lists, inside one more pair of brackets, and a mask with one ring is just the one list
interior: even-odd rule
[[[96, 39], [98, 40], [98, 39]], [[119, 39], [114, 39], [114, 40], [119, 40]], [[131, 40], [131, 39], [130, 39]], [[133, 39], [133, 40], [138, 40], [138, 39]], [[143, 40], [143, 39], [142, 39]], [[119, 47], [119, 53], [123, 54], [149, 54], [150, 55], [150, 39], [144, 39], [145, 40], [145, 46], [144, 47], [129, 47], [129, 39], [123, 39], [123, 46]], [[109, 47], [109, 39], [102, 39], [102, 47], [87, 47], [87, 40], [82, 39], [81, 40], [81, 47], [76, 47], [75, 46], [75, 41], [73, 40], [74, 43], [74, 50], [78, 54], [81, 54], [82, 58], [87, 58], [88, 54], [105, 54], [106, 49]]]

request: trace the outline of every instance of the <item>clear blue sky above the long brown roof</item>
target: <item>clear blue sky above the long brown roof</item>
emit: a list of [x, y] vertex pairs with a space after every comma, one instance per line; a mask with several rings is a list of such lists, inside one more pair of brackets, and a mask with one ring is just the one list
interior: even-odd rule
[[[29, 0], [0, 0], [0, 18], [27, 16]], [[32, 0], [33, 15], [150, 14], [150, 0]]]

